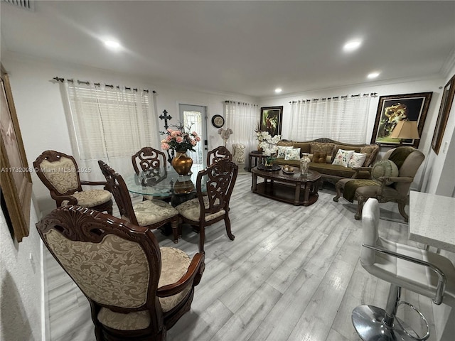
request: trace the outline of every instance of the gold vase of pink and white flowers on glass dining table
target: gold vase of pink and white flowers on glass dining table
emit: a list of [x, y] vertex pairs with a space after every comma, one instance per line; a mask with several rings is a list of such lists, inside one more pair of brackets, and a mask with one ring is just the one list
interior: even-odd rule
[[183, 124], [178, 124], [174, 127], [176, 129], [168, 128], [161, 132], [161, 134], [167, 134], [166, 139], [161, 140], [161, 149], [175, 151], [176, 155], [173, 157], [171, 165], [179, 175], [187, 175], [193, 166], [193, 159], [186, 153], [196, 151], [194, 146], [200, 141], [200, 137], [196, 131], [188, 133], [190, 126], [185, 128]]

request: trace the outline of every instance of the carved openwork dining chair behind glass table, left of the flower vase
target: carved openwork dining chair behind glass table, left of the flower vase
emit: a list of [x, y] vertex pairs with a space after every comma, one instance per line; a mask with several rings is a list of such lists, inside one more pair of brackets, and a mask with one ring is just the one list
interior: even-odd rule
[[[147, 181], [155, 181], [159, 183], [167, 176], [166, 155], [162, 151], [158, 151], [151, 147], [141, 148], [140, 151], [131, 157], [134, 171], [137, 175], [143, 173]], [[166, 202], [171, 201], [171, 197], [144, 195], [143, 200], [159, 199]]]

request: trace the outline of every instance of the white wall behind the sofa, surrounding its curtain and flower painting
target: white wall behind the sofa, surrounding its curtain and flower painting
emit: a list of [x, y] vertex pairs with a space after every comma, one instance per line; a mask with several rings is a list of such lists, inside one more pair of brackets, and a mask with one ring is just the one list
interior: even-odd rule
[[[261, 107], [272, 107], [272, 106], [283, 106], [283, 124], [282, 124], [282, 137], [283, 139], [287, 139], [289, 136], [289, 128], [290, 128], [290, 116], [291, 116], [291, 104], [289, 102], [296, 101], [299, 99], [314, 99], [314, 98], [321, 98], [321, 97], [333, 97], [338, 95], [346, 95], [346, 94], [364, 94], [364, 93], [371, 93], [377, 92], [378, 97], [375, 97], [371, 100], [370, 104], [370, 112], [368, 112], [368, 131], [366, 132], [365, 136], [365, 143], [370, 143], [371, 136], [373, 135], [373, 127], [375, 124], [376, 112], [378, 109], [379, 97], [380, 96], [387, 96], [387, 95], [394, 95], [394, 94], [412, 94], [416, 92], [433, 92], [432, 100], [429, 104], [427, 118], [425, 120], [424, 129], [422, 131], [422, 136], [419, 142], [419, 151], [422, 151], [425, 155], [424, 165], [419, 168], [417, 175], [415, 176], [414, 183], [412, 183], [412, 189], [415, 190], [423, 190], [424, 186], [422, 187], [423, 182], [423, 170], [425, 167], [427, 169], [432, 170], [433, 166], [432, 163], [429, 166], [425, 166], [425, 163], [429, 162], [429, 160], [433, 160], [433, 156], [431, 155], [434, 152], [432, 151], [431, 144], [432, 144], [432, 137], [434, 126], [437, 120], [437, 114], [439, 112], [439, 104], [441, 102], [441, 89], [439, 87], [444, 86], [446, 82], [442, 78], [427, 78], [427, 79], [419, 79], [419, 80], [402, 80], [401, 82], [396, 82], [394, 84], [381, 84], [380, 82], [377, 83], [364, 83], [362, 85], [355, 85], [350, 87], [339, 87], [333, 89], [326, 89], [326, 90], [315, 90], [311, 92], [301, 92], [299, 94], [291, 94], [287, 96], [280, 96], [280, 97], [267, 97], [260, 99], [259, 103]], [[452, 118], [455, 115], [452, 115]], [[453, 127], [452, 127], [453, 129]], [[321, 136], [325, 137], [325, 136]], [[445, 139], [446, 136], [444, 136]], [[304, 136], [302, 136], [301, 141], [306, 141]], [[344, 141], [342, 141], [344, 142]], [[349, 142], [349, 141], [346, 141]], [[444, 142], [443, 142], [444, 143]], [[381, 147], [380, 148], [380, 155], [385, 153], [389, 147]], [[431, 151], [431, 152], [430, 152]], [[441, 154], [441, 153], [440, 153]], [[428, 179], [425, 179], [428, 181]]]

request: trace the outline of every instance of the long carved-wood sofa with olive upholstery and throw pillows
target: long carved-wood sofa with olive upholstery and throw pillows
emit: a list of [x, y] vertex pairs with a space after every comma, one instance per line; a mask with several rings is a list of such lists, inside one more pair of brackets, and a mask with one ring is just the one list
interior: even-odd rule
[[[277, 144], [279, 146], [278, 157], [274, 159], [273, 163], [275, 165], [289, 165], [292, 167], [300, 167], [300, 158], [303, 153], [308, 153], [311, 163], [309, 164], [309, 169], [312, 171], [317, 171], [321, 173], [321, 185], [323, 182], [336, 184], [338, 180], [344, 178], [364, 178], [368, 179], [370, 173], [368, 171], [359, 171], [356, 170], [356, 167], [369, 167], [372, 166], [376, 161], [379, 153], [379, 146], [377, 144], [348, 144], [339, 141], [334, 141], [331, 139], [321, 138], [313, 141], [289, 141], [281, 140]], [[284, 148], [280, 148], [284, 147]], [[290, 148], [292, 147], [292, 148]], [[291, 160], [283, 155], [286, 153], [286, 149], [295, 149], [300, 148], [300, 153], [298, 158]], [[338, 153], [338, 150], [342, 149], [343, 151], [353, 151], [355, 153], [366, 154], [362, 156], [365, 158], [362, 164], [348, 163], [349, 166], [341, 166], [340, 162], [335, 162], [338, 164], [333, 164], [336, 156], [340, 156], [341, 153]], [[288, 154], [291, 152], [288, 152]], [[338, 153], [338, 155], [337, 155]], [[350, 153], [347, 153], [348, 156]], [[294, 156], [296, 156], [296, 151], [294, 151]], [[353, 154], [354, 156], [354, 154]], [[358, 156], [358, 154], [356, 154]], [[292, 158], [292, 157], [291, 157]], [[295, 157], [294, 157], [295, 158]], [[337, 160], [338, 161], [338, 160]], [[361, 160], [360, 160], [361, 162]], [[350, 167], [355, 165], [353, 167]]]

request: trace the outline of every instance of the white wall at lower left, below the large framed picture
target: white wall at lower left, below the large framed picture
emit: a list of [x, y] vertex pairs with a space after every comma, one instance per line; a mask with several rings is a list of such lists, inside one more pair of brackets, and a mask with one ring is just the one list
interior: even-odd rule
[[41, 239], [31, 205], [30, 234], [17, 243], [0, 212], [0, 340], [41, 340]]

